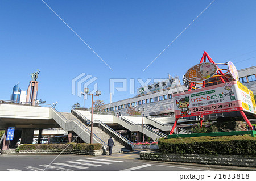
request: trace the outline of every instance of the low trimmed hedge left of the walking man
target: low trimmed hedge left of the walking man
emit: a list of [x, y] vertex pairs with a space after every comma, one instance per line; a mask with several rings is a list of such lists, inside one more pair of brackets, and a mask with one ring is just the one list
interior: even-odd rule
[[100, 150], [101, 144], [24, 144], [20, 145], [17, 150]]

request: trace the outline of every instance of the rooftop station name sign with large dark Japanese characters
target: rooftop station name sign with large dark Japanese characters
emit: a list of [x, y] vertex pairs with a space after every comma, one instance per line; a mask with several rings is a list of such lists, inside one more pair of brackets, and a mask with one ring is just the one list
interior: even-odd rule
[[166, 89], [170, 89], [170, 87], [177, 86], [177, 85], [180, 85], [179, 77], [175, 77], [172, 79], [166, 79], [162, 82], [156, 82], [151, 85], [139, 87], [137, 89], [137, 95], [148, 94], [148, 93], [152, 93], [155, 91], [166, 90]]

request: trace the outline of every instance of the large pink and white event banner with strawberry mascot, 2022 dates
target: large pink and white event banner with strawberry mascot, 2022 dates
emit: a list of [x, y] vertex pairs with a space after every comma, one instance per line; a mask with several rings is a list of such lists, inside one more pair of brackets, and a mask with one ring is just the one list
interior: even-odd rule
[[256, 114], [253, 92], [238, 81], [174, 95], [175, 117], [247, 111]]

